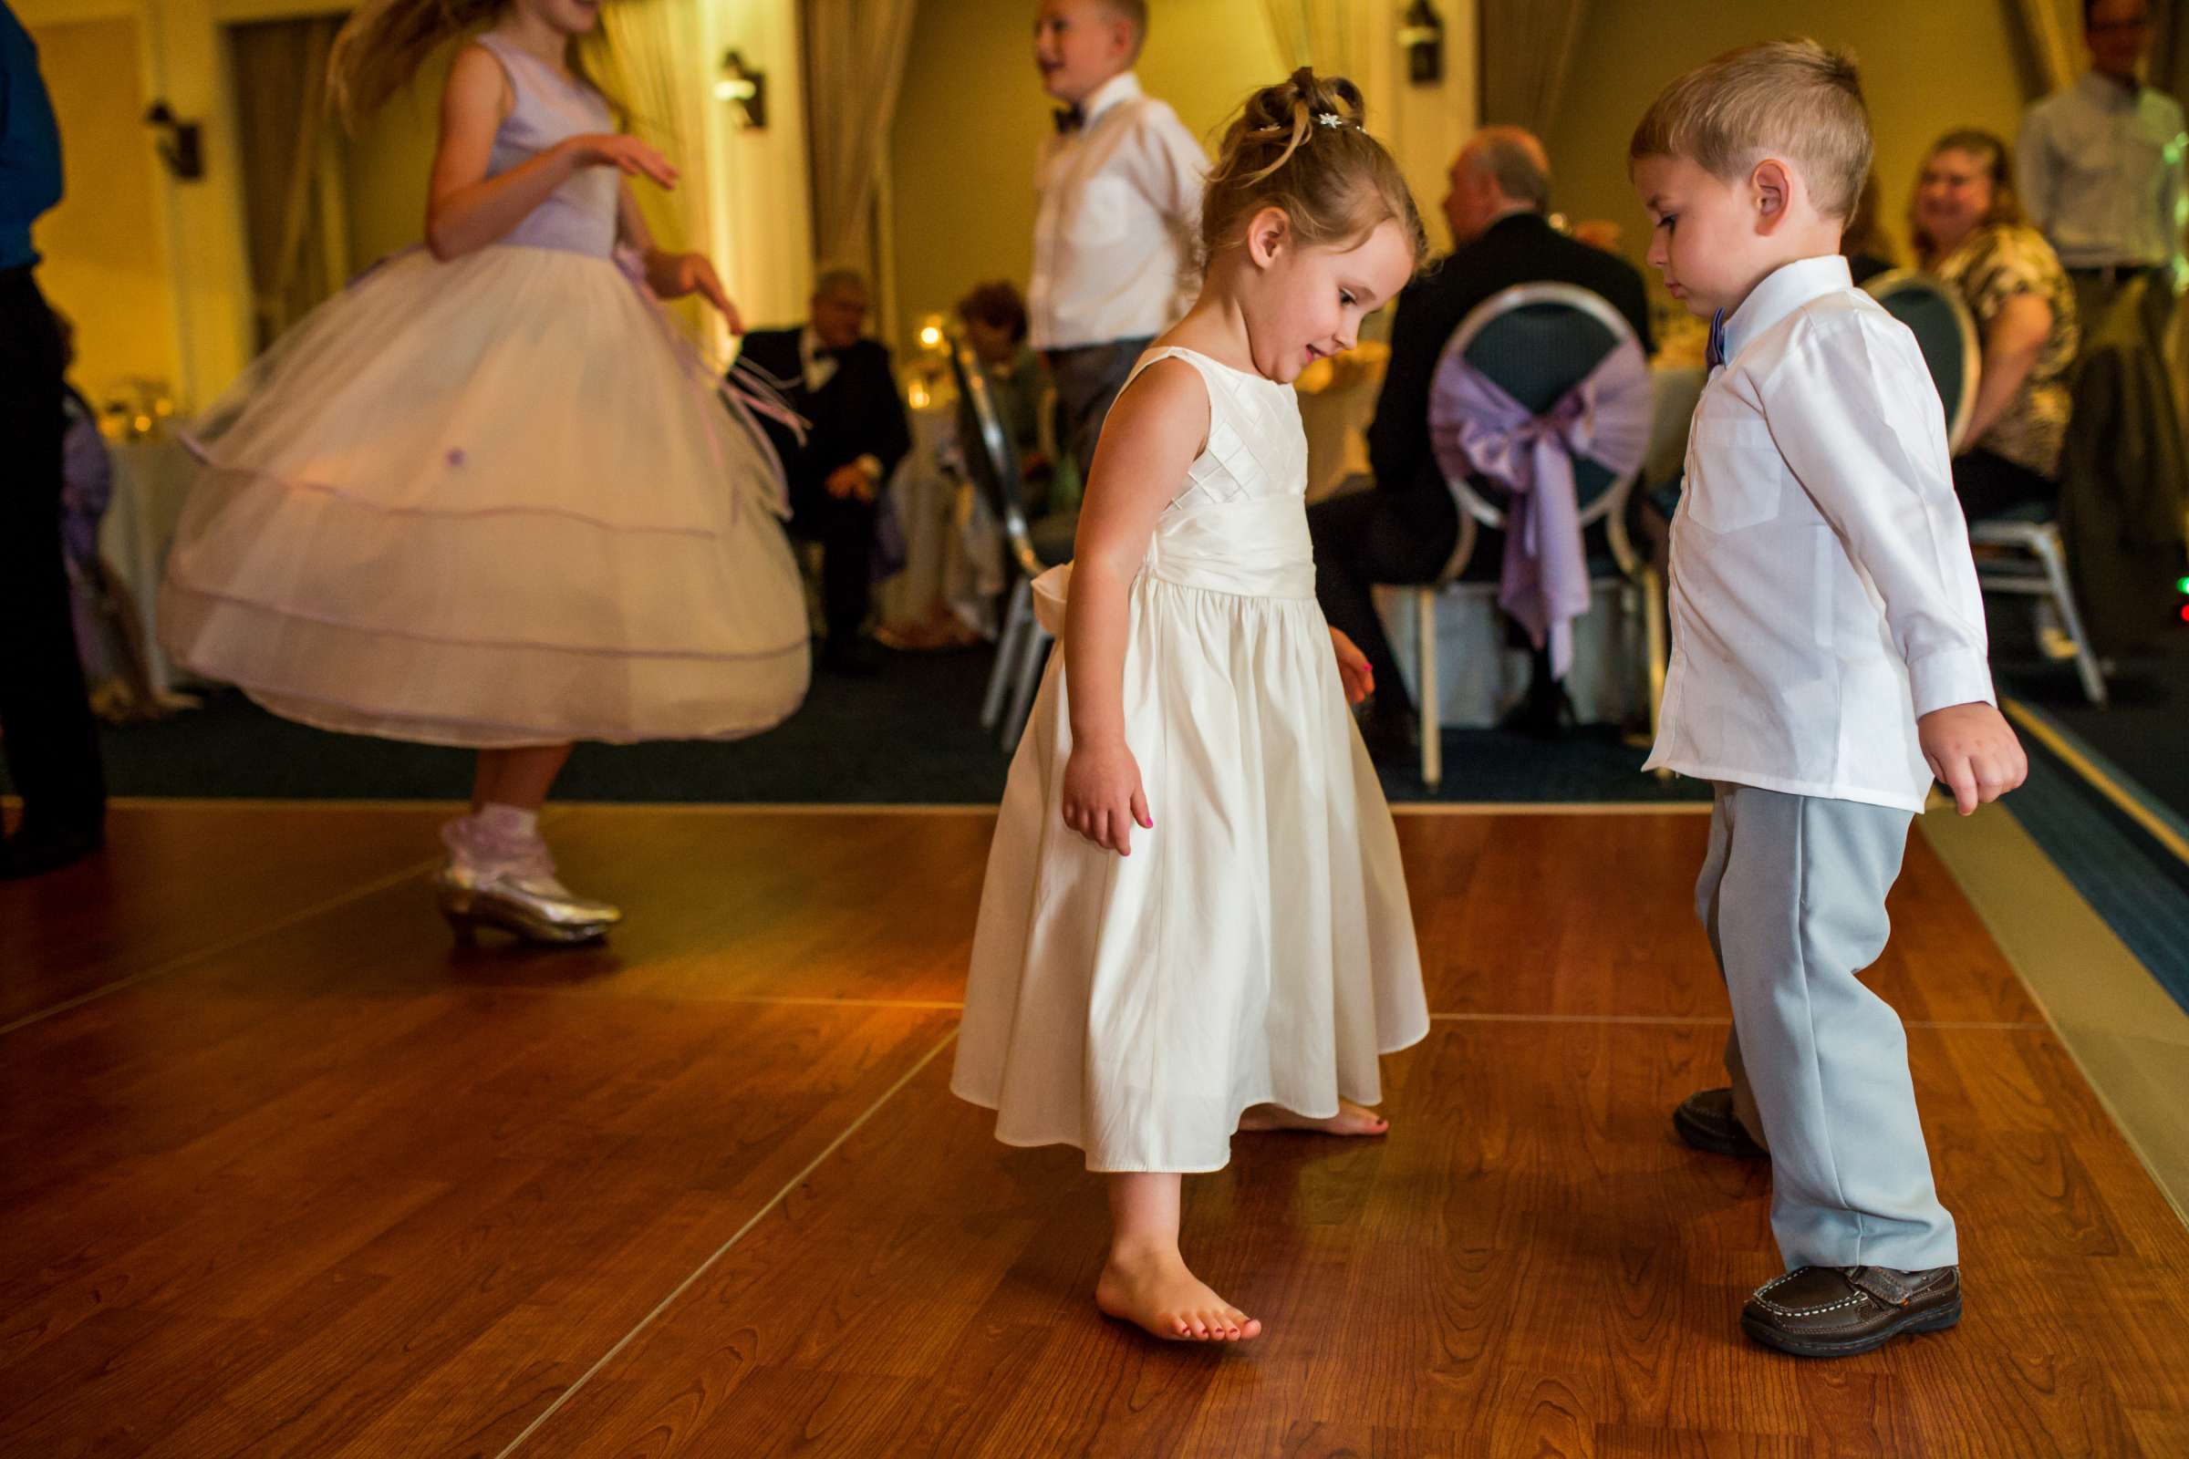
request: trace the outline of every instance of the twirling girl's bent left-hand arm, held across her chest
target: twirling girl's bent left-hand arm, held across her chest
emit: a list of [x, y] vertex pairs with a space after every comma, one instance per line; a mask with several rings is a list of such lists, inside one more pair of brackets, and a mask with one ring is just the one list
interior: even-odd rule
[[663, 188], [676, 168], [637, 138], [591, 133], [556, 142], [499, 177], [486, 175], [495, 129], [517, 105], [501, 61], [484, 46], [464, 46], [440, 94], [440, 147], [425, 206], [425, 245], [449, 260], [495, 243], [584, 166], [644, 173]]

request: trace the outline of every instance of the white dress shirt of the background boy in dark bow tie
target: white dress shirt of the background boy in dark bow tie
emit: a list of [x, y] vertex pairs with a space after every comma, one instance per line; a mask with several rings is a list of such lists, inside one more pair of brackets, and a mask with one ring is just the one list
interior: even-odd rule
[[1044, 140], [1035, 168], [1042, 201], [1027, 289], [1035, 350], [1160, 335], [1200, 289], [1193, 247], [1208, 175], [1200, 142], [1132, 72], [1105, 81], [1081, 109], [1084, 125]]

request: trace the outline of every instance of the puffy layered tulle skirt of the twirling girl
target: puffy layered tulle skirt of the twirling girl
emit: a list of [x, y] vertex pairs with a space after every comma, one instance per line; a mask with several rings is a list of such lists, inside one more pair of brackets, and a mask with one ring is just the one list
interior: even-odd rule
[[615, 262], [412, 252], [197, 424], [160, 634], [322, 728], [729, 739], [806, 696], [781, 468]]

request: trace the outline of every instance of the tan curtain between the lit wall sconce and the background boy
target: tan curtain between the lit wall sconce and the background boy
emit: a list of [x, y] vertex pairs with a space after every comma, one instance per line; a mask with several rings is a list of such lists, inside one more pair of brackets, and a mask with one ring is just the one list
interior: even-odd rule
[[806, 133], [814, 258], [871, 269], [873, 177], [897, 114], [917, 0], [810, 0]]

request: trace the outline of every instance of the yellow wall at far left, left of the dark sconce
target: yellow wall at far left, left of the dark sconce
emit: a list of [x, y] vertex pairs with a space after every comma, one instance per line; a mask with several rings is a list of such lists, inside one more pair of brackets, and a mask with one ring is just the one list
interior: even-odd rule
[[140, 122], [138, 24], [120, 15], [33, 31], [61, 125], [68, 197], [35, 230], [39, 287], [77, 322], [77, 385], [103, 402], [125, 378], [175, 387], [153, 133]]

